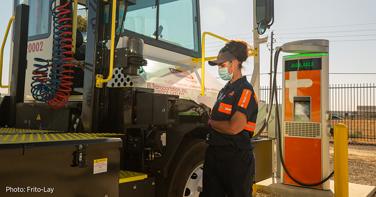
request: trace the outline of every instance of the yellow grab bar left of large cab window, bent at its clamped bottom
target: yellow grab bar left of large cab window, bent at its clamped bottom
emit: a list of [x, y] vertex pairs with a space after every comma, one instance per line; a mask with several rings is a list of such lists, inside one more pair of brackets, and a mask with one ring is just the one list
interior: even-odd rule
[[97, 75], [96, 87], [103, 87], [103, 83], [108, 82], [112, 78], [113, 73], [113, 55], [115, 51], [115, 19], [116, 19], [116, 0], [112, 0], [112, 18], [111, 18], [111, 48], [109, 55], [109, 74], [107, 79], [103, 79], [103, 75]]

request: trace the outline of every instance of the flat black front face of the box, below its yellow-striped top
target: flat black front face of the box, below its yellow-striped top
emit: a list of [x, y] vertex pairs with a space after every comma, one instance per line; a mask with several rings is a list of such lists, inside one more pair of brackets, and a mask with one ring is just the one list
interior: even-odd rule
[[[7, 145], [0, 145], [0, 159], [4, 161], [1, 162], [1, 197], [118, 196], [120, 139], [26, 143], [24, 155], [18, 156], [1, 154], [20, 150], [19, 147], [4, 150]], [[77, 145], [87, 145], [86, 167], [71, 166]], [[107, 158], [107, 172], [94, 174], [94, 160], [102, 158]], [[48, 188], [53, 188], [53, 192]]]

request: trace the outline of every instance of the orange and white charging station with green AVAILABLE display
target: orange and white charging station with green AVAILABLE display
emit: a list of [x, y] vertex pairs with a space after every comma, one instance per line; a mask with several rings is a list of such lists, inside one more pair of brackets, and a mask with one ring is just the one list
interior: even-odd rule
[[[283, 57], [281, 145], [289, 174], [304, 184], [321, 182], [330, 174], [329, 41], [288, 42]], [[297, 53], [297, 54], [296, 54]], [[283, 184], [302, 186], [281, 167]], [[312, 188], [329, 190], [329, 181]]]

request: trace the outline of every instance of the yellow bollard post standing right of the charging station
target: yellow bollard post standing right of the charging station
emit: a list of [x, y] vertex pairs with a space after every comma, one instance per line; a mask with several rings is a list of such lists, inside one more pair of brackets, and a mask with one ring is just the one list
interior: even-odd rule
[[334, 197], [349, 197], [347, 126], [334, 126]]

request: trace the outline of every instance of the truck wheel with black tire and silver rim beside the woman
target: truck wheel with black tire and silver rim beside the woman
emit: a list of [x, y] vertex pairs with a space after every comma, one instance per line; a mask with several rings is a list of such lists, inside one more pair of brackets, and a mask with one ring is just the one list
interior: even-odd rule
[[166, 197], [199, 197], [208, 146], [203, 139], [187, 139], [181, 143], [168, 170]]

